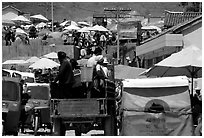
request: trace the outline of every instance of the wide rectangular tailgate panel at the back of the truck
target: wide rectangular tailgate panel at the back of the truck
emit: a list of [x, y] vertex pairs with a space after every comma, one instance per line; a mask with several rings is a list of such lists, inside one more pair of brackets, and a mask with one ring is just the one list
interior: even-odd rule
[[107, 116], [105, 98], [52, 99], [51, 117], [102, 117]]

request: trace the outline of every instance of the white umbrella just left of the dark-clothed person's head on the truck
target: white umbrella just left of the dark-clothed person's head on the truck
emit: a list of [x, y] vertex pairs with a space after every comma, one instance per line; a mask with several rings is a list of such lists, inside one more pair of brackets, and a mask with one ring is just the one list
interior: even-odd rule
[[48, 68], [54, 68], [54, 67], [58, 67], [60, 66], [60, 64], [58, 64], [57, 62], [54, 62], [51, 59], [48, 58], [41, 58], [40, 60], [36, 61], [35, 63], [33, 63], [32, 65], [29, 66], [29, 68], [33, 68], [33, 69], [48, 69]]

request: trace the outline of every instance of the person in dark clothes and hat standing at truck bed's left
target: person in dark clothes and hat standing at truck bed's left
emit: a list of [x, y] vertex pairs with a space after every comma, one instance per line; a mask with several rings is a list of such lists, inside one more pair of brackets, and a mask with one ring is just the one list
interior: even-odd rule
[[74, 84], [74, 73], [72, 66], [68, 60], [66, 53], [60, 51], [57, 53], [58, 60], [60, 62], [59, 73], [54, 80], [54, 83], [59, 81], [59, 97], [60, 98], [72, 98], [72, 85]]

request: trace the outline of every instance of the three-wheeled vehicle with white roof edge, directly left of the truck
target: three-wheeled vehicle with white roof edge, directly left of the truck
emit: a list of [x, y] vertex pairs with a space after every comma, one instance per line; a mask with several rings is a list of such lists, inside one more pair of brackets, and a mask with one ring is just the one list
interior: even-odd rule
[[26, 93], [30, 95], [27, 106], [27, 120], [24, 124], [34, 131], [37, 135], [39, 128], [48, 128], [52, 130], [50, 119], [50, 87], [47, 83], [28, 83]]

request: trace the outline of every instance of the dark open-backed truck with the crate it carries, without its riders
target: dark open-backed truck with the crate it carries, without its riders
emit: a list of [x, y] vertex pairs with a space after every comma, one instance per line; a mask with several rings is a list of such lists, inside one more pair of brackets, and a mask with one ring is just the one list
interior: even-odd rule
[[[88, 86], [92, 82], [93, 68], [83, 67], [80, 73], [81, 83]], [[86, 76], [86, 77], [84, 77]], [[51, 96], [51, 119], [53, 135], [64, 136], [66, 130], [75, 130], [75, 135], [88, 133], [90, 130], [104, 130], [104, 135], [117, 135], [115, 83], [106, 79], [103, 97], [58, 99]], [[53, 95], [53, 92], [51, 92]]]

